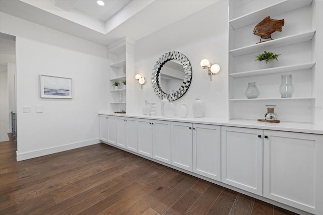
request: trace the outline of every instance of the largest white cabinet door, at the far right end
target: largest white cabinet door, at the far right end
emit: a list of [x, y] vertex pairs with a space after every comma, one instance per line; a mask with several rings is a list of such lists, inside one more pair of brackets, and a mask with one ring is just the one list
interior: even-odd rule
[[264, 130], [263, 196], [323, 214], [323, 135]]

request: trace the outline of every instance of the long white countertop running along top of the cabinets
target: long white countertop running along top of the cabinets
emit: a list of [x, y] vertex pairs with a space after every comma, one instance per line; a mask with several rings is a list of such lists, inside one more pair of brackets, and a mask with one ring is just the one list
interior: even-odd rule
[[193, 118], [193, 117], [166, 117], [166, 116], [149, 116], [142, 114], [122, 114], [122, 113], [99, 113], [100, 115], [110, 115], [110, 116], [123, 116], [123, 117], [133, 117], [141, 119], [154, 119], [154, 120], [165, 120], [165, 121], [177, 121], [177, 122], [189, 122], [189, 123], [200, 123], [200, 124], [210, 124], [210, 125], [223, 125], [223, 126], [233, 126], [233, 127], [245, 127], [245, 128], [258, 128], [267, 130], [280, 130], [280, 131], [291, 131], [291, 132], [301, 132], [301, 133], [315, 133], [323, 134], [323, 126], [313, 125], [311, 123], [304, 122], [258, 122], [250, 119], [221, 119], [221, 118]]

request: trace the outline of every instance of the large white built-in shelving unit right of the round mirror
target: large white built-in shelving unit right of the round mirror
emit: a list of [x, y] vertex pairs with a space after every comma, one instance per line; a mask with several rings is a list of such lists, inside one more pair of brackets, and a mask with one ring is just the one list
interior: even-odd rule
[[[313, 123], [315, 105], [315, 15], [312, 0], [232, 1], [229, 3], [229, 118], [263, 118], [264, 105], [277, 105], [282, 121]], [[252, 30], [265, 17], [285, 19], [273, 40], [258, 43]], [[263, 51], [281, 54], [273, 68], [259, 69], [255, 56]], [[291, 74], [294, 93], [281, 98], [281, 75]], [[248, 82], [256, 82], [258, 98], [244, 95]]]

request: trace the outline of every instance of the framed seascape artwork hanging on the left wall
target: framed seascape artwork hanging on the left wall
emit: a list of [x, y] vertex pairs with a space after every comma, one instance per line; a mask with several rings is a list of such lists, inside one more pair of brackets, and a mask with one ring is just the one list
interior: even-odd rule
[[40, 75], [40, 98], [72, 99], [72, 79]]

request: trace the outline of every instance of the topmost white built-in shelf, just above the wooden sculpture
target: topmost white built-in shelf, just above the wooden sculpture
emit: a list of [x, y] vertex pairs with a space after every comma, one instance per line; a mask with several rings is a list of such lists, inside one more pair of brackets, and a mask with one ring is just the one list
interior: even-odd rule
[[274, 17], [298, 8], [302, 8], [310, 4], [312, 4], [312, 0], [305, 0], [305, 1], [287, 0], [287, 1], [283, 1], [280, 3], [265, 7], [261, 10], [254, 11], [244, 16], [232, 19], [229, 21], [229, 23], [233, 29], [238, 29], [238, 28], [242, 28], [244, 26], [250, 25], [252, 23], [260, 22], [267, 14], [270, 14], [272, 17]]

